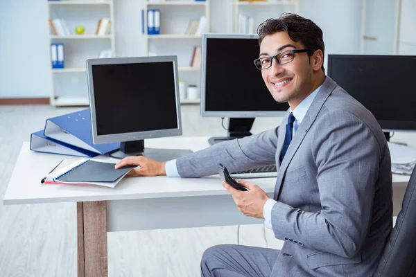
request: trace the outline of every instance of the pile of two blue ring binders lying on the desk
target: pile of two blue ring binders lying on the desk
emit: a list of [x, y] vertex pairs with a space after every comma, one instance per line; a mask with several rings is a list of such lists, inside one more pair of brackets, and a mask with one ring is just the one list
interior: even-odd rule
[[89, 109], [46, 120], [43, 130], [31, 134], [31, 150], [78, 157], [94, 157], [120, 148], [120, 143], [94, 144]]

